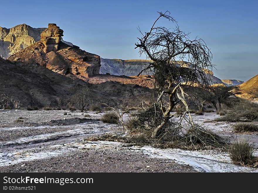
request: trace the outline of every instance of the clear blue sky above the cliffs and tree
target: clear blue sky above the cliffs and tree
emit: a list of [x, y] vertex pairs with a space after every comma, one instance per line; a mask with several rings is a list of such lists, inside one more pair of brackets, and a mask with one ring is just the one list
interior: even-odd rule
[[[246, 81], [258, 74], [257, 0], [1, 0], [0, 6], [1, 27], [56, 23], [65, 41], [103, 58], [119, 59], [140, 59], [134, 49], [140, 36], [137, 27], [149, 30], [156, 11], [169, 10], [181, 30], [202, 38], [211, 49], [215, 76]], [[159, 24], [174, 27], [163, 21]]]

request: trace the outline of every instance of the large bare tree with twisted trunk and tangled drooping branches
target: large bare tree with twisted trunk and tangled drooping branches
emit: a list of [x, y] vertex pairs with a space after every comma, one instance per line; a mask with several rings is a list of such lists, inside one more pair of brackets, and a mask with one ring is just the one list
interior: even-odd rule
[[[159, 112], [160, 121], [152, 122], [152, 138], [155, 138], [169, 119], [175, 116], [170, 112], [175, 107], [178, 98], [184, 103], [186, 110], [188, 109], [181, 85], [208, 84], [208, 78], [203, 69], [212, 70], [213, 67], [212, 54], [202, 39], [190, 40], [189, 33], [180, 30], [178, 25], [173, 30], [156, 26], [161, 18], [176, 23], [174, 18], [169, 16], [168, 11], [158, 13], [159, 17], [151, 26], [150, 31], [145, 33], [140, 31], [142, 37], [138, 38], [138, 42], [135, 43], [135, 48], [140, 49], [140, 55], [144, 53], [147, 59], [153, 61], [139, 73], [140, 75], [147, 70], [152, 72], [158, 93], [153, 110], [155, 110], [155, 116], [156, 112]], [[188, 63], [183, 61], [188, 61]], [[168, 105], [164, 103], [165, 97], [168, 97]], [[190, 112], [188, 113], [190, 116]]]

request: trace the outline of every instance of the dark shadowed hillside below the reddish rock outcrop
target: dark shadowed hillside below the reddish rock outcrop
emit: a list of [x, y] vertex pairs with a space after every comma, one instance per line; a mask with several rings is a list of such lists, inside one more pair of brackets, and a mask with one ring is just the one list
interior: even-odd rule
[[107, 103], [124, 108], [142, 101], [149, 104], [152, 93], [151, 89], [134, 84], [112, 81], [89, 84], [74, 75], [63, 76], [38, 64], [1, 58], [0, 77], [0, 109], [73, 106], [71, 99], [82, 86], [89, 88], [88, 105]]

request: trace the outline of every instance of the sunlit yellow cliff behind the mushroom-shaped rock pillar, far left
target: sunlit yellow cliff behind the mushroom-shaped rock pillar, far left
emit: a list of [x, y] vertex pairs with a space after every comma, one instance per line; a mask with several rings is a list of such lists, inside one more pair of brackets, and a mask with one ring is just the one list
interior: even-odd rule
[[32, 28], [21, 24], [7, 29], [0, 27], [0, 56], [7, 58], [40, 40], [46, 28]]

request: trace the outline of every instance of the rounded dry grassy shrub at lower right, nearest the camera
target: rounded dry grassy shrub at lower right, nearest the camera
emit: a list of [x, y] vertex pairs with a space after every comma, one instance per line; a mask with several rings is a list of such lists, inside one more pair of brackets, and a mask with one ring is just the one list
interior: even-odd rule
[[230, 146], [229, 157], [234, 164], [251, 165], [254, 162], [253, 145], [245, 140], [236, 140]]

